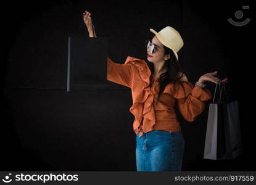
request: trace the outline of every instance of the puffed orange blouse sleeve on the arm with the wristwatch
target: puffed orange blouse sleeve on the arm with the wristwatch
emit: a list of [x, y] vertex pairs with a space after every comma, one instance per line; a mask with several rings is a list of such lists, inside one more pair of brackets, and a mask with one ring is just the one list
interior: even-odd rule
[[205, 101], [212, 99], [212, 93], [207, 88], [194, 86], [189, 81], [183, 82], [183, 88], [179, 85], [178, 90], [174, 93], [177, 99], [178, 110], [187, 121], [196, 120], [197, 115], [205, 109]]

